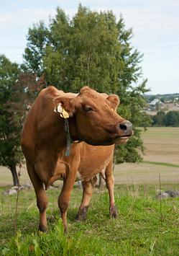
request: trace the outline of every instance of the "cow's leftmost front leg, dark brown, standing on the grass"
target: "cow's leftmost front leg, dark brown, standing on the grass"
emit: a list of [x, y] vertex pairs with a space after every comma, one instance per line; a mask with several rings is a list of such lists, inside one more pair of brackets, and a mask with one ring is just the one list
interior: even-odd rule
[[40, 225], [39, 230], [40, 231], [47, 231], [47, 218], [46, 218], [46, 209], [48, 205], [48, 198], [45, 193], [45, 189], [43, 187], [43, 183], [38, 177], [37, 173], [35, 172], [35, 169], [32, 167], [32, 165], [27, 161], [27, 171], [29, 173], [30, 180], [32, 181], [32, 184], [35, 188], [35, 194], [37, 198], [37, 207], [40, 211]]

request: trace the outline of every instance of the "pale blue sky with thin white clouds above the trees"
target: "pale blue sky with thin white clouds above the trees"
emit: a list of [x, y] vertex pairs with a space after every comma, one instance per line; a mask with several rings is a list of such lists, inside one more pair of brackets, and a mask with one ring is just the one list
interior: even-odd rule
[[71, 18], [80, 3], [92, 11], [112, 10], [132, 28], [150, 94], [179, 93], [179, 0], [0, 0], [0, 54], [22, 63], [29, 27], [40, 20], [48, 25], [57, 6]]

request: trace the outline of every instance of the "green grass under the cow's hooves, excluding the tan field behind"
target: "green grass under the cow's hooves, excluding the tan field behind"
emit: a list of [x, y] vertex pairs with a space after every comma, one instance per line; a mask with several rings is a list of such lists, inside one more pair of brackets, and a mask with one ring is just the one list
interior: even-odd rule
[[[173, 185], [162, 185], [162, 190]], [[179, 185], [175, 185], [179, 190]], [[2, 189], [1, 189], [2, 190]], [[19, 195], [18, 229], [14, 237], [16, 196], [1, 197], [0, 240], [4, 255], [179, 255], [179, 200], [155, 200], [155, 185], [115, 187], [118, 219], [109, 219], [109, 196], [95, 190], [83, 222], [75, 221], [81, 190], [73, 189], [68, 211], [68, 234], [59, 223], [59, 191], [47, 191], [50, 204], [47, 219], [50, 230], [39, 234], [38, 211], [33, 190]]]

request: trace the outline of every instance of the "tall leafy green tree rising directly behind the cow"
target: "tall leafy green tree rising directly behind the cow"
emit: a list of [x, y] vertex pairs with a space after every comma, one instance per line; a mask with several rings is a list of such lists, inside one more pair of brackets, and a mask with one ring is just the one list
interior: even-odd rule
[[[143, 144], [136, 127], [150, 123], [142, 112], [147, 92], [147, 80], [140, 81], [142, 54], [132, 47], [131, 38], [132, 30], [126, 30], [122, 17], [116, 22], [112, 12], [91, 12], [80, 4], [73, 19], [57, 9], [48, 27], [36, 25], [29, 30], [25, 50], [29, 54], [24, 56], [28, 71], [45, 74], [47, 84], [65, 92], [89, 85], [98, 92], [119, 95], [118, 112], [132, 121], [134, 136], [126, 146], [119, 146], [117, 162], [141, 160]], [[34, 63], [42, 65], [34, 67]]]

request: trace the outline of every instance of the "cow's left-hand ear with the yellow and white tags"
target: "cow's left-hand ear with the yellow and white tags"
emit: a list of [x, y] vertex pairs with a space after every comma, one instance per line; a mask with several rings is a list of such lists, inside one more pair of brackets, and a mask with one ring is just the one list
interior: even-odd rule
[[75, 107], [73, 105], [73, 98], [70, 97], [55, 97], [53, 104], [55, 106], [55, 112], [58, 112], [62, 118], [69, 118], [73, 116]]

